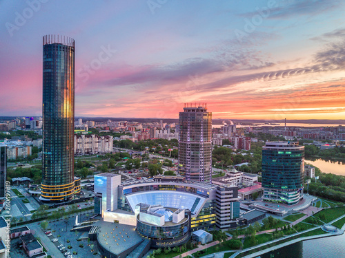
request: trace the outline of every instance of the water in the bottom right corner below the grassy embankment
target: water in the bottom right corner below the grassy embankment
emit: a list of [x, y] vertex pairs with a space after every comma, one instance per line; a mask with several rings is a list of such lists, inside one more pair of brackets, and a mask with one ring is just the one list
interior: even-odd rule
[[261, 258], [344, 258], [345, 235], [301, 241], [261, 255]]

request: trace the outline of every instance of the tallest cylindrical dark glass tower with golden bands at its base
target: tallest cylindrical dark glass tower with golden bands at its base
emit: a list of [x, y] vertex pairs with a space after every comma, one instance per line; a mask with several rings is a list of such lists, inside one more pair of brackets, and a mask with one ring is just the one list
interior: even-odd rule
[[43, 175], [41, 200], [75, 193], [75, 40], [43, 36]]

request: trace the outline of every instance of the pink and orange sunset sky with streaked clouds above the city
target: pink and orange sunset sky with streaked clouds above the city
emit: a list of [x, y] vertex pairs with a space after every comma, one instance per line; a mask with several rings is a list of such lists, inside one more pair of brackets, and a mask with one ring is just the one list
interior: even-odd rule
[[41, 116], [42, 36], [76, 41], [75, 116], [345, 119], [345, 1], [1, 1], [0, 116]]

